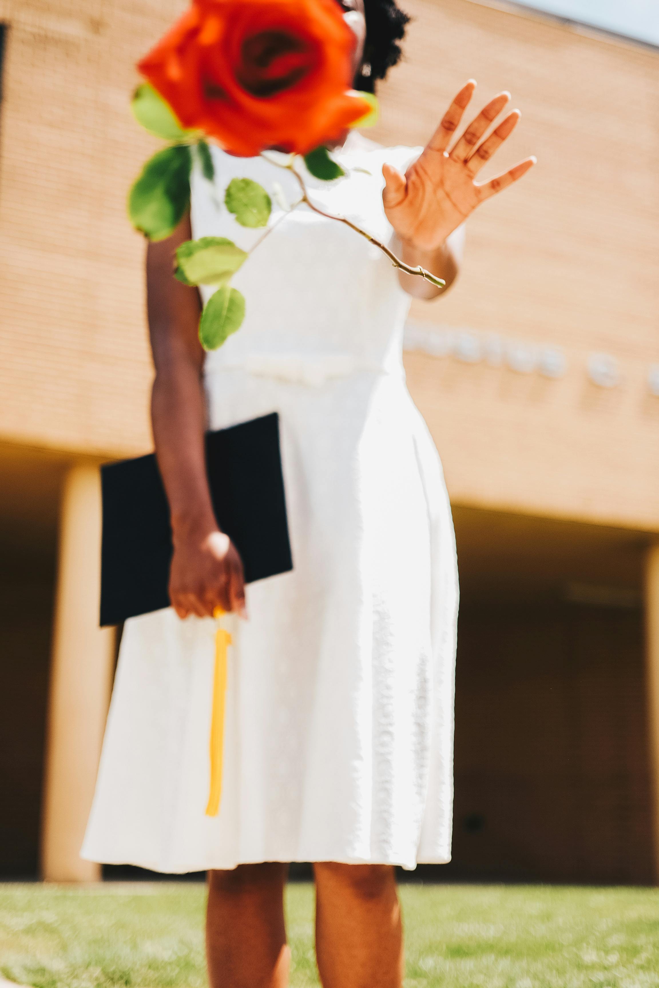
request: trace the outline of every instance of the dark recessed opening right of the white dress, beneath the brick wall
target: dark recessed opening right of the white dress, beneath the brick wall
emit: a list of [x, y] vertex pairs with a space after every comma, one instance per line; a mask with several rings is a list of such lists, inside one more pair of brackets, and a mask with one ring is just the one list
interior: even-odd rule
[[455, 812], [442, 877], [650, 883], [645, 537], [466, 510], [455, 520]]

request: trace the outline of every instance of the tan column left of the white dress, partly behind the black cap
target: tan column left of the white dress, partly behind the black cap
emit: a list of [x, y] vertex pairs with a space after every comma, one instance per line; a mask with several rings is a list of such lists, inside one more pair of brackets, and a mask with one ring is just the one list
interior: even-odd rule
[[45, 750], [41, 870], [45, 881], [96, 881], [79, 855], [99, 766], [115, 652], [99, 628], [101, 482], [98, 467], [64, 480]]

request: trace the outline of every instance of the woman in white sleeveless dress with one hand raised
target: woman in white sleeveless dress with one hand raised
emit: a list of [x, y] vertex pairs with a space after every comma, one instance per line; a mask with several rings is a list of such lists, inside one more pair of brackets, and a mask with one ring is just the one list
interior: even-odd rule
[[[367, 89], [398, 60], [407, 18], [393, 0], [343, 6], [357, 85]], [[449, 153], [474, 86], [460, 90], [423, 151], [351, 135], [334, 151], [350, 177], [306, 180], [320, 206], [393, 241], [405, 262], [447, 285], [457, 270], [452, 234], [533, 164], [474, 184], [519, 119], [508, 115], [486, 136], [505, 93]], [[174, 534], [173, 609], [126, 623], [83, 853], [208, 870], [213, 988], [288, 983], [287, 863], [311, 861], [323, 985], [394, 988], [402, 979], [394, 865], [447, 862], [451, 853], [453, 527], [401, 362], [408, 295], [439, 289], [398, 276], [362, 237], [300, 206], [234, 279], [248, 298], [245, 323], [205, 357], [199, 294], [172, 278], [176, 247], [193, 232], [255, 244], [258, 231], [217, 207], [234, 176], [271, 191], [279, 183], [289, 203], [298, 195], [277, 153], [270, 161], [213, 153], [217, 188], [195, 175], [192, 216], [148, 248], [152, 419]], [[245, 593], [238, 553], [213, 516], [204, 433], [272, 411], [294, 569]], [[222, 804], [209, 818], [208, 618], [217, 606], [249, 617], [229, 670]]]

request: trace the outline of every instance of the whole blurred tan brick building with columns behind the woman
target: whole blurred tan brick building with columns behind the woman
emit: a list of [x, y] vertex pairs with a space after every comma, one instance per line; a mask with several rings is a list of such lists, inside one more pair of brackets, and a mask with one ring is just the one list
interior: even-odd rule
[[[127, 110], [180, 0], [0, 0], [0, 875], [82, 880], [115, 660], [98, 464], [151, 448]], [[453, 863], [650, 882], [659, 865], [659, 52], [478, 0], [407, 0], [384, 143], [470, 76], [539, 165], [413, 306], [406, 368], [453, 500]], [[41, 849], [41, 850], [40, 850]]]

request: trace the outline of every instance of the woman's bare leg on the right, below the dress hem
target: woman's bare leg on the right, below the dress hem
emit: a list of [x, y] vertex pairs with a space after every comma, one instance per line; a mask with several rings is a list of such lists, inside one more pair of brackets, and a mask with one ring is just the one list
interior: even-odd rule
[[388, 864], [314, 864], [323, 988], [400, 988], [403, 931]]

